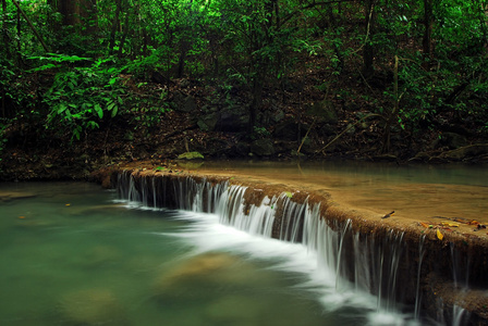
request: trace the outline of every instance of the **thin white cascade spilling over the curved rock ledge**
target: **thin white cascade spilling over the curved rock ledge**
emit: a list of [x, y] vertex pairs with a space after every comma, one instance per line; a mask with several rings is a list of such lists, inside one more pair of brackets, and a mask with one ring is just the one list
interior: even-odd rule
[[[467, 325], [468, 314], [459, 305], [451, 305], [448, 313], [438, 311], [434, 318], [424, 311], [425, 236], [417, 239], [415, 248], [403, 231], [377, 230], [369, 236], [351, 218], [324, 216], [328, 212], [324, 203], [310, 202], [308, 197], [296, 200], [289, 192], [268, 196], [229, 180], [125, 171], [118, 174], [117, 190], [129, 202], [215, 214], [221, 225], [302, 246], [315, 260], [304, 286], [327, 288], [320, 299], [326, 311], [363, 300], [376, 316], [371, 325]], [[468, 258], [454, 246], [449, 250], [454, 288], [459, 283], [467, 288]], [[446, 321], [446, 315], [450, 319]]]

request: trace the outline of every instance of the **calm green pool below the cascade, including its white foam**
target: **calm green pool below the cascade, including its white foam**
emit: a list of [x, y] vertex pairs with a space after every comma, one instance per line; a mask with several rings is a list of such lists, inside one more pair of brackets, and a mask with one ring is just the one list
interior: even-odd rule
[[376, 312], [366, 294], [321, 288], [310, 253], [300, 244], [217, 221], [131, 208], [93, 184], [0, 184], [0, 325], [345, 326], [408, 319]]

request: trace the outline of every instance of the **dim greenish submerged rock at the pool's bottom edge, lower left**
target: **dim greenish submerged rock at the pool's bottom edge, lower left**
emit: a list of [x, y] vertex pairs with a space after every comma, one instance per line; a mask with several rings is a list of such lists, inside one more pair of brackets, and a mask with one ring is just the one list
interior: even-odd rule
[[68, 293], [59, 303], [63, 325], [129, 325], [123, 306], [108, 289]]

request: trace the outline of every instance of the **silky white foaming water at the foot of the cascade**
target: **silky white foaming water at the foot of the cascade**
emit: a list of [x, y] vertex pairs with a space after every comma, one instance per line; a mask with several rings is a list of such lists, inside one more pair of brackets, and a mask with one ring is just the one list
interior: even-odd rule
[[410, 315], [377, 310], [377, 299], [353, 286], [338, 289], [333, 271], [320, 269], [317, 252], [302, 243], [249, 235], [220, 224], [215, 214], [180, 212], [178, 218], [192, 224], [185, 231], [170, 236], [192, 243], [196, 253], [230, 252], [271, 263], [267, 268], [293, 279], [293, 291], [320, 303], [325, 321], [332, 318], [345, 325], [417, 325]]

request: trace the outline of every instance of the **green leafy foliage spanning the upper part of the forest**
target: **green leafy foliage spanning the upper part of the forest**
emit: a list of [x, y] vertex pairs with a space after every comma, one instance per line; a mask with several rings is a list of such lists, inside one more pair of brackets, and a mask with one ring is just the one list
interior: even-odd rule
[[[370, 24], [364, 24], [367, 1], [107, 0], [73, 12], [75, 23], [65, 21], [61, 11], [68, 8], [51, 5], [57, 1], [19, 2], [33, 27], [5, 2], [0, 16], [5, 45], [0, 49], [0, 96], [12, 101], [13, 115], [44, 120], [46, 127], [71, 133], [72, 139], [121, 111], [131, 114], [138, 128], [155, 127], [171, 109], [166, 102], [171, 89], [161, 97], [135, 98], [120, 77], [123, 72], [145, 83], [155, 71], [169, 79], [210, 79], [218, 90], [215, 97], [223, 96], [228, 104], [235, 89], [247, 90], [253, 108], [259, 108], [264, 89], [284, 85], [280, 82], [297, 70], [313, 76], [326, 68], [327, 76], [317, 78], [318, 89], [340, 89], [338, 98], [366, 102], [382, 115], [396, 102], [402, 127], [418, 127], [450, 113], [469, 116], [477, 128], [486, 129], [488, 25], [483, 1], [373, 1]], [[430, 16], [426, 4], [432, 5]], [[431, 53], [425, 53], [427, 27]], [[34, 30], [56, 53], [42, 52]], [[380, 77], [391, 74], [393, 58], [400, 58], [398, 93], [391, 78], [375, 86], [362, 75], [365, 48], [373, 48], [374, 71]], [[340, 77], [364, 80], [366, 87], [338, 87]], [[52, 80], [47, 91], [36, 86], [46, 79]], [[37, 108], [38, 96], [47, 114]], [[266, 127], [254, 131], [269, 136]]]

